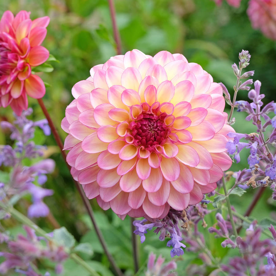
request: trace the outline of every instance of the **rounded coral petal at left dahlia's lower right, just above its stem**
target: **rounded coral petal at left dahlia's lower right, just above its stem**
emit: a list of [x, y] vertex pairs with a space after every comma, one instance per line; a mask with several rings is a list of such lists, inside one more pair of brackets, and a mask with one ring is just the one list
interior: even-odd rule
[[30, 75], [25, 79], [26, 93], [35, 99], [40, 99], [45, 95], [45, 85], [42, 79], [37, 75]]

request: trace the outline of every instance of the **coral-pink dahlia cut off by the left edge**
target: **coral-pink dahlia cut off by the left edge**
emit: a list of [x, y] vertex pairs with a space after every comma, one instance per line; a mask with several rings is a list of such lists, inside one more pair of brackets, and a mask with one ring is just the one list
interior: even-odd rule
[[32, 67], [44, 63], [49, 52], [40, 46], [44, 40], [50, 18], [30, 19], [25, 10], [15, 17], [8, 10], [0, 20], [0, 106], [11, 106], [20, 116], [28, 107], [29, 95], [42, 98], [45, 86]]

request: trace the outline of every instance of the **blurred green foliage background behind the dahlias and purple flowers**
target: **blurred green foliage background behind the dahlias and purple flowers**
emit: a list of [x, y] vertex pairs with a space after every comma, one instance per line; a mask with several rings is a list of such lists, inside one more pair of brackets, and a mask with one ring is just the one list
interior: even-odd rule
[[[233, 75], [231, 64], [238, 63], [238, 53], [242, 49], [249, 50], [252, 57], [247, 68], [255, 70], [253, 79], [262, 82], [261, 91], [266, 94], [263, 102], [270, 102], [275, 98], [276, 43], [264, 37], [260, 31], [251, 28], [246, 14], [247, 2], [242, 0], [240, 8], [235, 9], [226, 2], [218, 7], [212, 0], [115, 0], [122, 52], [124, 54], [137, 48], [152, 56], [161, 50], [182, 53], [189, 62], [201, 64], [203, 69], [213, 76], [215, 82], [223, 82], [232, 95], [236, 77]], [[60, 128], [60, 122], [64, 117], [66, 106], [73, 99], [72, 86], [89, 77], [92, 66], [104, 63], [110, 56], [116, 55], [108, 2], [107, 0], [1, 1], [0, 15], [5, 10], [11, 10], [14, 14], [20, 10], [31, 11], [32, 19], [45, 15], [51, 18], [43, 45], [59, 60], [59, 63], [50, 62], [55, 70], [43, 73], [41, 77], [50, 84], [46, 89], [44, 102], [64, 139], [66, 133]], [[238, 94], [239, 100], [246, 97], [247, 91]], [[31, 98], [29, 102], [34, 109], [33, 119], [43, 118], [37, 102]], [[0, 116], [2, 120], [13, 120], [10, 108], [0, 108]], [[253, 125], [244, 124], [246, 114], [234, 113], [234, 117], [237, 121], [234, 125], [237, 132], [255, 132]], [[9, 141], [7, 137], [7, 133], [0, 132], [0, 144]], [[45, 198], [45, 202], [60, 225], [67, 227], [77, 240], [81, 239], [92, 244], [93, 260], [102, 263], [101, 273], [108, 276], [110, 274], [106, 268], [108, 261], [102, 254], [53, 137], [46, 138], [38, 131], [36, 142], [48, 145], [47, 154], [55, 159], [57, 164], [54, 174], [48, 178], [46, 184], [47, 188], [55, 191], [55, 194]], [[245, 150], [241, 155], [242, 161], [235, 164], [233, 170], [247, 167], [246, 154]], [[244, 212], [253, 193], [254, 191], [249, 189], [242, 201], [239, 197], [232, 196], [231, 201], [238, 211]], [[270, 216], [273, 209], [275, 210], [275, 205], [269, 197], [271, 192], [268, 190], [252, 213], [254, 217], [261, 219]], [[103, 212], [96, 201], [91, 202], [111, 253], [119, 266], [126, 271], [126, 275], [132, 275], [129, 219], [122, 222], [112, 212]], [[19, 203], [17, 208], [24, 213], [26, 204], [28, 199]], [[272, 216], [275, 218], [275, 213], [272, 213]], [[214, 222], [213, 216], [208, 221], [209, 226]], [[51, 218], [39, 219], [37, 223], [48, 231], [52, 230]], [[15, 222], [8, 227], [14, 234], [21, 231]], [[219, 245], [221, 240], [214, 239], [213, 235], [207, 233], [207, 229], [204, 232], [208, 236], [208, 244], [214, 256], [223, 257], [228, 249], [221, 248]], [[151, 250], [163, 253], [167, 260], [171, 258], [166, 242], [159, 242], [158, 236], [149, 233], [146, 242], [140, 246], [140, 265], [146, 261]], [[181, 271], [186, 269], [188, 264], [202, 263], [198, 256], [190, 252], [181, 259], [182, 261], [178, 262], [179, 275], [184, 275]], [[74, 265], [70, 262], [65, 267], [65, 275], [85, 275], [84, 272], [80, 273], [80, 268], [77, 266], [74, 270]]]

